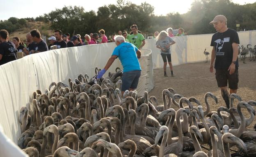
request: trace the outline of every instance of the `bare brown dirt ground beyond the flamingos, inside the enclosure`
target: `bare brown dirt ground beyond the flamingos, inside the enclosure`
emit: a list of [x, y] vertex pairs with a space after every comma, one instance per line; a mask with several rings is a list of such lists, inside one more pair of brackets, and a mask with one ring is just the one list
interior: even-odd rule
[[[209, 66], [210, 62], [174, 66], [174, 77], [171, 77], [169, 67], [167, 67], [167, 75], [169, 77], [164, 77], [163, 69], [155, 69], [153, 73], [155, 86], [149, 92], [149, 96], [155, 95], [158, 103], [162, 104], [162, 90], [171, 87], [184, 97], [196, 97], [201, 102], [201, 105], [206, 107], [204, 94], [211, 92], [218, 98], [218, 104], [215, 104], [213, 99], [208, 98], [210, 110], [217, 111], [219, 106], [226, 106], [226, 104], [217, 87], [215, 74], [210, 73]], [[240, 61], [238, 73], [239, 83], [237, 94], [244, 101], [256, 100], [256, 62], [249, 62], [249, 59], [246, 59], [246, 64], [243, 64]], [[238, 100], [235, 100], [234, 106], [237, 103]], [[242, 111], [245, 113], [245, 117], [249, 117], [247, 110]], [[253, 128], [254, 124], [256, 124], [256, 120], [247, 128]]]

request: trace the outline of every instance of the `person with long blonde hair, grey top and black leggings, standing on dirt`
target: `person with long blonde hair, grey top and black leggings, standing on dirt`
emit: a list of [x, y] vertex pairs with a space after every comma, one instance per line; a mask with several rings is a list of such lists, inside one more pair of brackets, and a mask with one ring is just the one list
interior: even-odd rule
[[162, 59], [164, 61], [164, 76], [165, 77], [168, 76], [166, 73], [167, 60], [168, 60], [169, 66], [170, 66], [171, 76], [174, 76], [172, 64], [171, 64], [171, 49], [170, 49], [170, 46], [172, 44], [175, 44], [175, 42], [173, 39], [171, 39], [171, 37], [168, 36], [167, 31], [161, 31], [159, 33], [158, 37], [156, 38], [156, 47], [158, 49], [160, 49], [160, 53], [161, 53]]

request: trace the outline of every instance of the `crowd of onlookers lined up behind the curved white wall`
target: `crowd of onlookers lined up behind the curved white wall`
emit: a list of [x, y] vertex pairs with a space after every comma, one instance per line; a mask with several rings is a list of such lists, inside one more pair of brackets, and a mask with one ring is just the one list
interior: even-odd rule
[[[133, 24], [130, 29], [131, 33], [124, 30], [123, 32], [118, 31], [118, 35], [123, 36], [126, 42], [133, 43], [137, 49], [142, 49], [145, 44], [144, 36], [138, 31], [136, 24]], [[23, 43], [18, 37], [12, 38], [11, 41], [8, 31], [2, 29], [0, 30], [0, 65], [17, 60], [17, 52], [23, 52], [24, 56], [51, 49], [114, 42], [116, 35], [114, 34], [110, 37], [108, 40], [104, 29], [99, 30], [98, 33], [85, 34], [84, 40], [80, 34], [71, 37], [69, 33], [64, 34], [61, 30], [55, 30], [54, 35], [48, 38], [47, 45], [46, 41], [41, 38], [41, 33], [38, 29], [26, 34], [26, 43]]]

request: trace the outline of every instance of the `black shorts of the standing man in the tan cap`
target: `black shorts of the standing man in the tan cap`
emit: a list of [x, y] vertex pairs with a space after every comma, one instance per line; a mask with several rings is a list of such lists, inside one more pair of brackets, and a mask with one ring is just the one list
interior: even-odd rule
[[233, 74], [229, 74], [229, 71], [223, 69], [216, 69], [215, 77], [218, 87], [225, 87], [229, 82], [230, 89], [238, 89], [238, 69], [235, 69]]

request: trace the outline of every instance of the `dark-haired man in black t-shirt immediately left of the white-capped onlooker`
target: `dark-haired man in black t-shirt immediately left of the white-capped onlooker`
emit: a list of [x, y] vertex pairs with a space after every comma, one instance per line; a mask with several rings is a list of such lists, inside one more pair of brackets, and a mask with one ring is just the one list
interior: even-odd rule
[[48, 46], [45, 41], [41, 38], [41, 34], [38, 29], [34, 29], [30, 32], [33, 41], [36, 42], [35, 50], [31, 51], [32, 53], [48, 51]]

